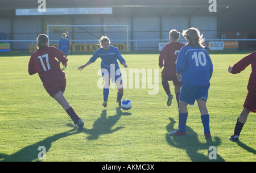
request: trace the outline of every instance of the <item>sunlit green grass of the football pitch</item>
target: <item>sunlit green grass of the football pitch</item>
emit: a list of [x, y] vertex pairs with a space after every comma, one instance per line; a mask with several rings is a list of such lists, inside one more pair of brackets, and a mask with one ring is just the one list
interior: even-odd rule
[[[169, 136], [177, 129], [178, 109], [175, 99], [166, 106], [161, 69], [158, 94], [148, 95], [153, 89], [141, 88], [141, 83], [140, 88], [125, 88], [123, 99], [130, 99], [133, 107], [124, 111], [115, 103], [117, 88], [110, 89], [108, 107], [102, 106], [102, 89], [97, 87], [100, 59], [78, 71], [92, 53], [68, 56], [64, 95], [85, 123], [85, 129], [77, 132], [64, 109], [44, 90], [38, 74], [28, 74], [30, 54], [1, 53], [0, 161], [39, 161], [39, 146], [46, 147], [46, 159], [40, 161], [49, 162], [255, 161], [254, 113], [249, 114], [240, 142], [228, 140], [242, 111], [251, 72], [249, 66], [240, 74], [229, 74], [228, 66], [250, 52], [209, 53], [214, 67], [207, 102], [212, 141], [204, 138], [197, 103], [188, 106], [187, 136]], [[128, 69], [159, 69], [159, 52], [121, 54]], [[172, 82], [170, 86], [174, 94]], [[216, 146], [216, 160], [208, 158], [209, 146]]]

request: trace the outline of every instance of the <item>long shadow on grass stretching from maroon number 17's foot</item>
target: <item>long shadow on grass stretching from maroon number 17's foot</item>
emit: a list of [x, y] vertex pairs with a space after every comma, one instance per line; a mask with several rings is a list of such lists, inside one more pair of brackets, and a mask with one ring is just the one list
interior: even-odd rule
[[[47, 161], [47, 151], [51, 148], [53, 142], [59, 140], [60, 138], [64, 138], [67, 136], [71, 136], [72, 134], [80, 133], [76, 128], [68, 130], [67, 132], [55, 134], [51, 137], [47, 137], [42, 141], [36, 142], [35, 144], [28, 145], [23, 149], [13, 153], [11, 155], [0, 153], [0, 161], [2, 162], [31, 162], [31, 161], [40, 161], [38, 158], [38, 154], [41, 149], [38, 150], [39, 146], [46, 147], [46, 161]], [[41, 155], [40, 155], [41, 156]]]

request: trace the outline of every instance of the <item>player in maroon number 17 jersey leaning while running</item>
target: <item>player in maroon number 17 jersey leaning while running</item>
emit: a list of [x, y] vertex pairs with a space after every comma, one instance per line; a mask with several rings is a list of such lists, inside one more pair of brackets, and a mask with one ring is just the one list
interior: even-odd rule
[[76, 114], [63, 95], [66, 87], [66, 78], [57, 60], [65, 64], [68, 59], [64, 56], [64, 53], [57, 48], [48, 46], [47, 35], [39, 35], [37, 41], [38, 49], [30, 57], [28, 73], [30, 75], [38, 73], [48, 94], [65, 109], [73, 122], [78, 126], [78, 129], [82, 130], [84, 122]]

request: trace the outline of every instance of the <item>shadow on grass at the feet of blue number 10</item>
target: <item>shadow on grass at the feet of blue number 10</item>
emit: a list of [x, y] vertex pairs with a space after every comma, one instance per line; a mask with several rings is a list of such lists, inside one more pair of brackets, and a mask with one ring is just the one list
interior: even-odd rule
[[[212, 150], [209, 151], [209, 147], [210, 146], [217, 147], [218, 145], [220, 145], [220, 142], [221, 142], [220, 138], [214, 137], [214, 140], [211, 140], [210, 138], [209, 140], [207, 140], [206, 143], [201, 143], [197, 138], [196, 132], [194, 132], [191, 128], [189, 128], [189, 126], [186, 126], [186, 132], [187, 132], [186, 136], [170, 136], [169, 132], [176, 130], [174, 129], [174, 124], [176, 123], [176, 121], [172, 118], [170, 118], [170, 121], [171, 123], [166, 126], [167, 132], [168, 132], [168, 134], [166, 134], [166, 140], [168, 144], [179, 149], [184, 149], [187, 152], [188, 157], [193, 162], [208, 162], [208, 161], [223, 162], [224, 161], [224, 159], [217, 154], [218, 151], [216, 153], [217, 159], [210, 160], [208, 157], [208, 154], [210, 153], [210, 151], [212, 151]], [[204, 153], [205, 151], [208, 151], [208, 154], [205, 155], [203, 154], [203, 152], [200, 153], [200, 151], [203, 151]]]

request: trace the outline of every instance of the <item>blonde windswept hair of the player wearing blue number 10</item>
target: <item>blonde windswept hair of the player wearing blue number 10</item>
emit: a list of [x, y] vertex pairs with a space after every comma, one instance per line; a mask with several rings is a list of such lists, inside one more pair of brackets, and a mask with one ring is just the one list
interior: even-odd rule
[[188, 41], [189, 46], [191, 47], [203, 47], [205, 48], [203, 34], [200, 33], [197, 28], [189, 28], [182, 32], [182, 35]]

